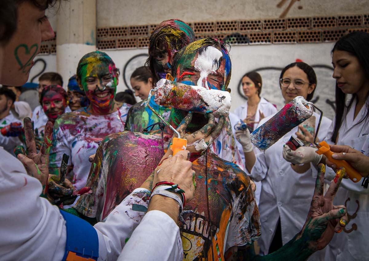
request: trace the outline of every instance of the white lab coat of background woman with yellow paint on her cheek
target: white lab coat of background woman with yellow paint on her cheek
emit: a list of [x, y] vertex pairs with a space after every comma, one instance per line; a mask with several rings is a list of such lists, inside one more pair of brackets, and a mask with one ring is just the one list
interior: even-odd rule
[[[267, 101], [263, 97], [261, 97], [260, 101], [259, 101], [259, 104], [258, 104], [258, 108], [256, 109], [255, 122], [260, 121], [260, 112], [259, 111], [261, 111], [264, 114], [265, 117], [268, 117], [269, 115], [275, 114], [277, 112], [277, 108], [272, 103], [270, 103], [269, 101]], [[231, 120], [231, 124], [232, 124], [233, 134], [235, 135], [234, 125], [236, 125], [240, 120], [243, 121], [247, 117], [247, 102], [245, 104], [242, 104], [241, 106], [237, 107], [235, 109], [234, 113], [233, 114], [230, 113], [229, 116], [230, 116], [230, 120]], [[257, 128], [257, 126], [258, 126], [258, 124], [255, 123], [254, 124], [254, 130]], [[241, 154], [242, 162], [245, 165], [245, 154], [242, 150], [242, 145], [237, 140], [236, 140], [236, 143], [237, 143], [239, 153]], [[244, 168], [244, 170], [245, 170], [246, 173], [248, 173], [246, 168]], [[255, 185], [256, 185], [255, 200], [256, 200], [256, 204], [259, 205], [262, 184], [261, 184], [261, 182], [255, 182]]]

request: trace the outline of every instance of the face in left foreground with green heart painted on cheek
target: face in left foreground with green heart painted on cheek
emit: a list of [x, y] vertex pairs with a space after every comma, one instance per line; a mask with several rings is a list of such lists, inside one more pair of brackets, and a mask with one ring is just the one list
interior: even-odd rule
[[1, 83], [10, 86], [21, 86], [28, 80], [41, 41], [55, 35], [45, 10], [40, 10], [31, 1], [18, 4], [17, 16], [17, 29], [3, 50], [6, 66], [0, 69]]

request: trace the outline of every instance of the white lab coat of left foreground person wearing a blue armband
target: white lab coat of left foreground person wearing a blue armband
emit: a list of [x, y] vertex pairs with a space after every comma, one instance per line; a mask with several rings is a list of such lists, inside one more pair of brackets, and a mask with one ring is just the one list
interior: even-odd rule
[[[105, 222], [94, 226], [99, 238], [98, 260], [115, 261], [118, 256], [120, 261], [135, 260], [133, 257], [153, 261], [183, 259], [179, 227], [168, 215], [152, 210], [141, 223], [144, 213], [139, 219], [130, 218], [131, 203], [142, 201], [134, 192], [142, 190], [145, 189], [135, 189]], [[58, 207], [39, 196], [41, 191], [41, 183], [28, 176], [21, 162], [0, 147], [0, 260], [62, 260], [65, 220]], [[132, 234], [136, 227], [138, 230]]]

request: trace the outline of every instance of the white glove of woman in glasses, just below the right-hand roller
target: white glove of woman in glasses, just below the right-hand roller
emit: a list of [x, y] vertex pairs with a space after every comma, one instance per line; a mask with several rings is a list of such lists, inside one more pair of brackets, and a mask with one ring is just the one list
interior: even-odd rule
[[299, 147], [297, 150], [291, 150], [289, 146], [283, 146], [283, 158], [292, 164], [310, 163], [317, 165], [323, 155], [315, 153], [316, 148]]

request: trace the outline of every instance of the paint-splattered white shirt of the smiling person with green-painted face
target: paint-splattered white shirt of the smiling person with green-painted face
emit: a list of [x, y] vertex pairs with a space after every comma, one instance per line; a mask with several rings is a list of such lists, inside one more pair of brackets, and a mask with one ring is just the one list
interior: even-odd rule
[[124, 103], [118, 111], [108, 115], [92, 115], [86, 108], [80, 108], [59, 116], [52, 135], [50, 172], [57, 174], [63, 153], [66, 153], [69, 156], [68, 165], [73, 166], [67, 178], [76, 189], [84, 187], [91, 167], [89, 156], [95, 154], [105, 136], [124, 130], [130, 107]]

